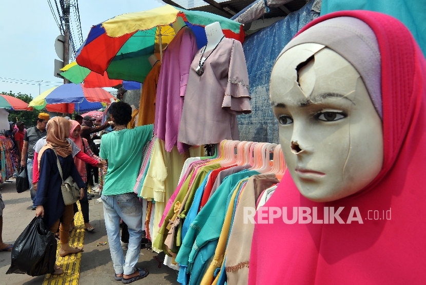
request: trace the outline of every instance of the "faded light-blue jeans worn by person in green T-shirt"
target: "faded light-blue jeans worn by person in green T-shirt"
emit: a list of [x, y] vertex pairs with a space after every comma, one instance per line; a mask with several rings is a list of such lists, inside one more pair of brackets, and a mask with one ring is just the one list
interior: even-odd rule
[[[142, 207], [136, 194], [102, 195], [105, 227], [115, 274], [130, 275], [139, 260], [142, 241]], [[120, 218], [129, 229], [126, 260], [120, 240]]]

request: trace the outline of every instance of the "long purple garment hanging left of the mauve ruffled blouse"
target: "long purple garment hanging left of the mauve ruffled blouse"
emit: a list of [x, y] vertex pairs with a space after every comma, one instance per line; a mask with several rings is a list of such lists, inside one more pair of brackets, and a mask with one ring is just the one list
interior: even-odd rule
[[178, 133], [189, 68], [197, 51], [195, 35], [190, 28], [183, 27], [163, 55], [157, 85], [154, 133], [165, 141], [168, 152], [175, 145], [180, 153], [190, 147], [178, 142]]

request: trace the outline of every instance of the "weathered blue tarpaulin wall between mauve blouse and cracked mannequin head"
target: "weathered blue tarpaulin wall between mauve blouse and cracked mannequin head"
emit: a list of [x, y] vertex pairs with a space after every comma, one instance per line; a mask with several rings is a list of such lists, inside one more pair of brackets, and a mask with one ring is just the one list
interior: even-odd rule
[[320, 9], [320, 1], [310, 0], [299, 11], [245, 39], [243, 49], [247, 63], [252, 112], [237, 116], [240, 140], [279, 144], [278, 123], [269, 104], [270, 72], [284, 46], [300, 29], [319, 16]]

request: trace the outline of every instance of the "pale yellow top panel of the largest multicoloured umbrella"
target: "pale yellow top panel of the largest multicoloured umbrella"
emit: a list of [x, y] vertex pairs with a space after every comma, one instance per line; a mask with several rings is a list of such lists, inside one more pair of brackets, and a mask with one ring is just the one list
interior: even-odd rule
[[170, 25], [176, 21], [179, 12], [175, 7], [165, 5], [148, 11], [115, 16], [102, 23], [102, 27], [108, 36], [119, 37], [137, 30], [148, 30], [155, 26]]

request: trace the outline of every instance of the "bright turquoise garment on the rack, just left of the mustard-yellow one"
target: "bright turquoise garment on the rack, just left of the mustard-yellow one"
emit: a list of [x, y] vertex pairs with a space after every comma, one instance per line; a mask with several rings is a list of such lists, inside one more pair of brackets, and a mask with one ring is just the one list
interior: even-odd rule
[[[176, 257], [176, 261], [178, 263], [188, 266], [188, 273], [191, 272], [192, 265], [196, 267], [202, 265], [193, 264], [193, 262], [197, 257], [197, 253], [207, 244], [207, 242], [215, 241], [217, 245], [223, 222], [225, 220], [227, 201], [230, 199], [228, 197], [229, 194], [235, 190], [234, 188], [238, 185], [240, 180], [257, 174], [259, 174], [259, 172], [255, 170], [246, 170], [229, 175], [227, 179], [222, 182], [216, 192], [210, 197], [206, 205], [198, 213], [197, 217], [193, 220]], [[209, 257], [204, 256], [203, 254], [203, 260], [210, 258], [215, 253], [215, 249], [216, 246]], [[198, 272], [198, 274], [200, 274], [200, 272]], [[198, 276], [195, 279], [198, 279]]]

